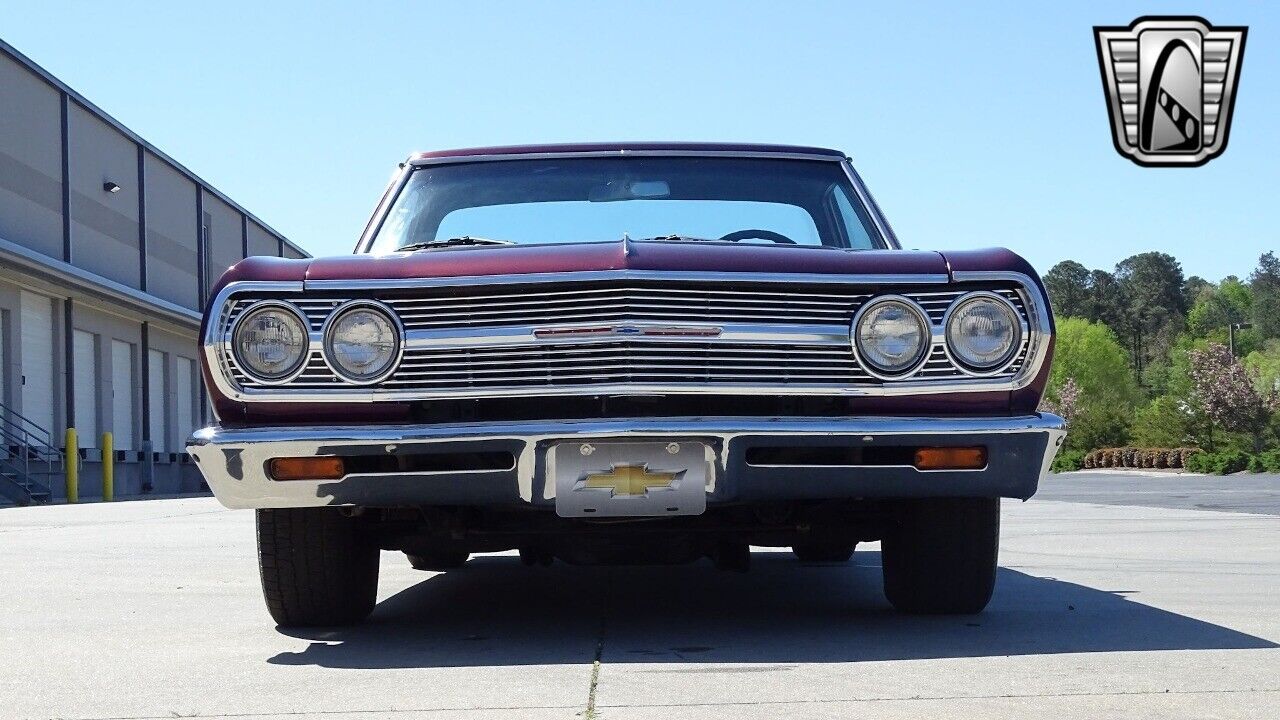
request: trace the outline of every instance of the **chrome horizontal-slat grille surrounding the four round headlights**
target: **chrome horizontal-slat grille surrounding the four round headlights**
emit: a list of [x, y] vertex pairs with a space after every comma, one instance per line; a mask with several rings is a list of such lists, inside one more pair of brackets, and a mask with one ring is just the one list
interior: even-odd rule
[[[374, 388], [375, 397], [452, 397], [500, 395], [506, 391], [536, 395], [558, 388], [584, 392], [590, 386], [698, 387], [707, 392], [733, 387], [792, 387], [841, 389], [886, 384], [864, 372], [850, 348], [849, 327], [863, 302], [879, 295], [868, 288], [818, 286], [813, 288], [773, 284], [744, 288], [728, 283], [658, 284], [643, 282], [595, 283], [593, 287], [524, 286], [453, 288], [444, 293], [421, 291], [407, 297], [392, 292], [378, 296], [404, 325], [407, 343], [398, 370]], [[1029, 320], [1019, 291], [992, 288], [1009, 299]], [[905, 295], [919, 302], [934, 325], [947, 307], [974, 288], [947, 291], [883, 292]], [[434, 295], [429, 295], [434, 292]], [[367, 296], [367, 295], [362, 295]], [[233, 297], [223, 315], [229, 328], [257, 297]], [[289, 299], [307, 316], [312, 352], [306, 369], [292, 382], [274, 389], [349, 389], [320, 355], [319, 333], [329, 314], [349, 300], [332, 295]], [[741, 341], [727, 337], [575, 337], [543, 342], [535, 328], [662, 323], [750, 328], [759, 337]], [[504, 333], [490, 342], [485, 331]], [[805, 333], [800, 333], [804, 329]], [[479, 337], [477, 337], [479, 336]], [[792, 337], [788, 337], [792, 336]], [[1029, 337], [1015, 363], [1001, 373], [1009, 378], [1025, 363]], [[221, 357], [233, 380], [244, 389], [262, 388], [236, 366], [229, 354]], [[915, 380], [964, 378], [936, 343]], [[266, 388], [262, 388], [266, 389]]]

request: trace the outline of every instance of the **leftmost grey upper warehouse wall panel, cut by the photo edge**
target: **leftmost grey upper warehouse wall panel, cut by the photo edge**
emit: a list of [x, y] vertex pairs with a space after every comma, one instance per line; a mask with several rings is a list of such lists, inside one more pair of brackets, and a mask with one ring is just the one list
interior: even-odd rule
[[63, 256], [61, 96], [0, 55], [0, 237]]

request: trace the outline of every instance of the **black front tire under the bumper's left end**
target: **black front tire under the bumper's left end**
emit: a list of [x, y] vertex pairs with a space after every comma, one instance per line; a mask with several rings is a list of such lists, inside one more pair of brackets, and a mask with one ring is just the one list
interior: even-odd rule
[[378, 601], [375, 538], [335, 507], [257, 511], [266, 609], [282, 626], [351, 625]]

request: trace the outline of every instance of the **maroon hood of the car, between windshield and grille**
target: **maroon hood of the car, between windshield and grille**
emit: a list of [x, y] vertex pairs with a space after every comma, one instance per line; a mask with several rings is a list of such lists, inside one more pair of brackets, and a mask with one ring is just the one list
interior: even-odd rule
[[842, 275], [947, 274], [938, 252], [841, 250], [709, 242], [584, 242], [453, 247], [393, 255], [311, 260], [306, 281], [415, 279], [602, 270], [796, 273]]

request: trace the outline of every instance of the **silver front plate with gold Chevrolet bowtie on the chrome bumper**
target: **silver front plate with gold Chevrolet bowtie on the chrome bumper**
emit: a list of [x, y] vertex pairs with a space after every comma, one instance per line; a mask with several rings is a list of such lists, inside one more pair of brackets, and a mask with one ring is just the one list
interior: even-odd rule
[[707, 510], [700, 442], [562, 442], [552, 447], [561, 518], [657, 518]]

